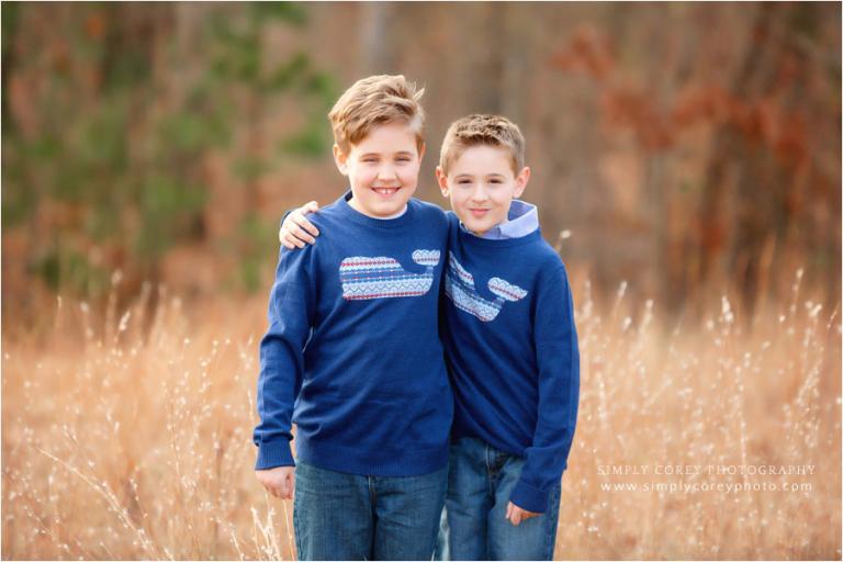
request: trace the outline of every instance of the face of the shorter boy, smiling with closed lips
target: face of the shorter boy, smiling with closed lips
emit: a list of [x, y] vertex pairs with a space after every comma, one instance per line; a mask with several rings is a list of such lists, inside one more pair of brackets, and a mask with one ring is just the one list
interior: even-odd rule
[[476, 145], [465, 148], [447, 175], [437, 167], [436, 178], [462, 224], [483, 235], [506, 221], [513, 199], [527, 187], [530, 169], [525, 167], [516, 176], [506, 148]]

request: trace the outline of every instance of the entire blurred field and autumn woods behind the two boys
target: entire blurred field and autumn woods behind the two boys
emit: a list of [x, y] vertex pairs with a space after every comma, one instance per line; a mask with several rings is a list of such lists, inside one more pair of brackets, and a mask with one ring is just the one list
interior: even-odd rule
[[841, 559], [840, 3], [0, 10], [4, 560], [293, 559], [251, 442], [279, 221], [344, 191], [325, 115], [383, 72], [426, 90], [422, 199], [452, 120], [527, 138], [581, 350], [555, 558]]

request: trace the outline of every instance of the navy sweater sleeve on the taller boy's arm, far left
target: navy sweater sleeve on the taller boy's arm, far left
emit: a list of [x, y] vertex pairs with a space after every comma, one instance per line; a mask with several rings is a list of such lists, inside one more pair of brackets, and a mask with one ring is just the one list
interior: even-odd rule
[[290, 451], [292, 414], [304, 373], [304, 347], [315, 310], [314, 248], [281, 248], [269, 296], [269, 328], [260, 340], [260, 374], [255, 428], [256, 470], [295, 464]]

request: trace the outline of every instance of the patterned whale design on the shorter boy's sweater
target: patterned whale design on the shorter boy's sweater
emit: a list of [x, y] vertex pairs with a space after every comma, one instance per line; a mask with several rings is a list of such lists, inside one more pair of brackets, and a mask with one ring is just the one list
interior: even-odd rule
[[465, 271], [453, 254], [448, 254], [445, 294], [459, 310], [476, 316], [482, 322], [492, 322], [497, 317], [505, 302], [516, 302], [527, 296], [526, 290], [497, 277], [490, 279], [487, 286], [496, 296], [494, 301], [486, 300], [477, 293], [474, 276]]

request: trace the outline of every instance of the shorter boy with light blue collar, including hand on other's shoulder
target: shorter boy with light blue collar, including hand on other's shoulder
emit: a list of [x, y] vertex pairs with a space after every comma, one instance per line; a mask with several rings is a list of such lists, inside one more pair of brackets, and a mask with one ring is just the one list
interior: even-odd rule
[[[452, 560], [552, 559], [576, 425], [571, 291], [536, 207], [515, 199], [530, 178], [524, 148], [510, 121], [470, 115], [448, 130], [436, 170], [453, 210], [443, 314], [456, 411], [438, 552]], [[290, 223], [308, 228], [301, 215]]]

